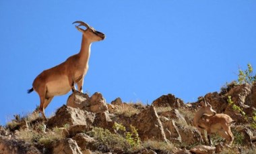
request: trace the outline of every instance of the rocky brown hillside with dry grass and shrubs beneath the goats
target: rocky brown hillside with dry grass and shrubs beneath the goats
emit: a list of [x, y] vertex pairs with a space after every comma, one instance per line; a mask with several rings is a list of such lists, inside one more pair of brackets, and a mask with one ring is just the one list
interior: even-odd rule
[[256, 84], [228, 84], [205, 94], [218, 113], [234, 120], [234, 143], [213, 134], [203, 143], [193, 127], [200, 101], [185, 104], [172, 94], [151, 105], [107, 103], [102, 94], [74, 92], [67, 104], [44, 121], [39, 114], [15, 115], [0, 127], [1, 153], [255, 153]]

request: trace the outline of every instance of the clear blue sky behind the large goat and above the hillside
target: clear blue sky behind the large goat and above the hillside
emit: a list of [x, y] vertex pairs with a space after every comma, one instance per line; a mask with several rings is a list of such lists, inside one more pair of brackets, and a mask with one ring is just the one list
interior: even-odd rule
[[[194, 102], [256, 71], [256, 1], [0, 1], [0, 124], [32, 112], [34, 78], [79, 52], [81, 20], [106, 34], [92, 44], [84, 92], [151, 104], [163, 94]], [[71, 94], [71, 92], [69, 92]], [[66, 103], [56, 96], [49, 116]]]

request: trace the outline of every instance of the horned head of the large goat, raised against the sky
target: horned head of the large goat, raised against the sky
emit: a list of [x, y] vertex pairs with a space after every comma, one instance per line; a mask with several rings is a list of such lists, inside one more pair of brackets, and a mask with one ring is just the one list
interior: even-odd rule
[[[92, 42], [104, 40], [104, 38], [106, 37], [104, 33], [101, 33], [100, 31], [96, 31], [93, 27], [90, 27], [90, 25], [88, 25], [87, 23], [84, 23], [83, 21], [75, 21], [73, 23], [79, 23], [79, 25], [75, 25], [75, 28], [78, 31], [81, 31], [83, 35], [88, 37], [88, 39], [90, 39]], [[86, 29], [80, 28], [80, 26], [82, 25], [84, 25]]]

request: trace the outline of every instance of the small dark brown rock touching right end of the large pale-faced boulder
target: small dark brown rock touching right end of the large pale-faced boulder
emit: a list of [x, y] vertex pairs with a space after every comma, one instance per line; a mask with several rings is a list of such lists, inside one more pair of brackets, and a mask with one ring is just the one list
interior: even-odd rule
[[108, 112], [98, 112], [94, 119], [93, 126], [108, 129], [113, 132], [114, 121], [110, 118], [111, 114]]

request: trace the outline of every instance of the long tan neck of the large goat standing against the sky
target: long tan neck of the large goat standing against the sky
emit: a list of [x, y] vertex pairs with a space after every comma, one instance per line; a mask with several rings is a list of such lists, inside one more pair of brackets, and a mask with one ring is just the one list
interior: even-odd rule
[[79, 62], [81, 64], [85, 64], [88, 66], [90, 52], [91, 52], [91, 44], [90, 40], [88, 40], [84, 35], [82, 36], [82, 44], [79, 52]]

